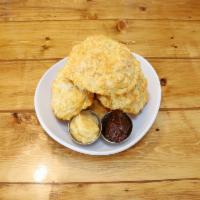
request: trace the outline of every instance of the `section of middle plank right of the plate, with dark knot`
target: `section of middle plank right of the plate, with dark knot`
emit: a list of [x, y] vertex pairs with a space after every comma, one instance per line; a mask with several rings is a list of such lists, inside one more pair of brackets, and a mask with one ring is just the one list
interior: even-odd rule
[[150, 59], [162, 85], [161, 108], [200, 107], [200, 60]]

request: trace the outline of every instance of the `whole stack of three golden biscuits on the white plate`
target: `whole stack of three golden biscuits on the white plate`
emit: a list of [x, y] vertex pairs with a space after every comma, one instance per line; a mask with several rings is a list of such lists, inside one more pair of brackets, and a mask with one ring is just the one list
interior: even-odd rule
[[136, 115], [147, 99], [140, 63], [125, 45], [101, 35], [73, 47], [52, 86], [52, 108], [62, 120], [93, 108], [93, 102], [104, 111], [119, 109]]

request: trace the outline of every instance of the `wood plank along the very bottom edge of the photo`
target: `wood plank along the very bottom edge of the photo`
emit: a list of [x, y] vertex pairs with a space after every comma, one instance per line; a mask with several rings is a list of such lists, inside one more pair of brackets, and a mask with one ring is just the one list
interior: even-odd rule
[[198, 200], [200, 181], [164, 181], [153, 183], [117, 183], [117, 184], [1, 184], [0, 198], [4, 200]]

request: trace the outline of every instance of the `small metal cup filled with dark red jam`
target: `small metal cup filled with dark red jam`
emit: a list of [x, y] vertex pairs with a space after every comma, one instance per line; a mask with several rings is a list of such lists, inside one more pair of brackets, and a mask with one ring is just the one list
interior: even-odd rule
[[102, 119], [103, 136], [115, 143], [125, 140], [132, 131], [132, 122], [128, 115], [120, 110], [114, 110]]

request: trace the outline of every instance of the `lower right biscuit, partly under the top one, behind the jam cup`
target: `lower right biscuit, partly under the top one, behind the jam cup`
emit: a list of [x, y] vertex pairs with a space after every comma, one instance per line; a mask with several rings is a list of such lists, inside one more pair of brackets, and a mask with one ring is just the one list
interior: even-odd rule
[[107, 108], [112, 110], [120, 109], [136, 115], [142, 110], [148, 99], [147, 81], [144, 75], [140, 73], [137, 84], [131, 91], [123, 95], [98, 95], [97, 98]]

